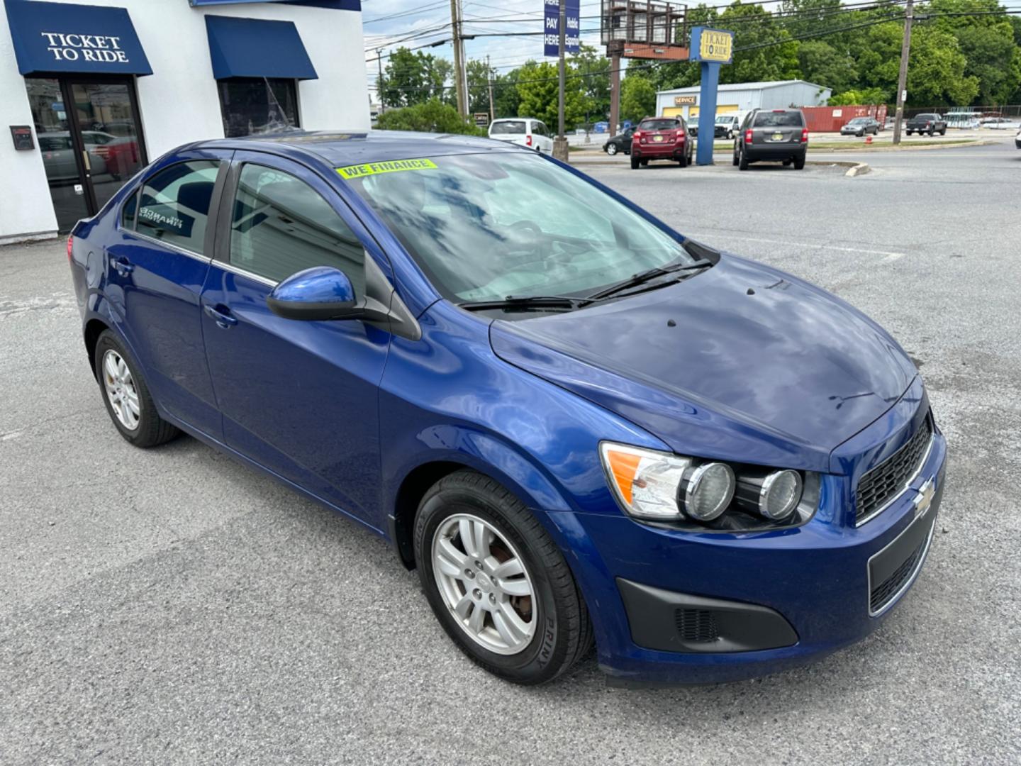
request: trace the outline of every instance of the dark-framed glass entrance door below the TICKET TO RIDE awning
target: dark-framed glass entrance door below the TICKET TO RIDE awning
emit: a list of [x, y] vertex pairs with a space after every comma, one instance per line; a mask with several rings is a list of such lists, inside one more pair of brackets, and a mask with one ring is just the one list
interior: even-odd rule
[[60, 231], [95, 214], [145, 163], [134, 83], [26, 78]]

